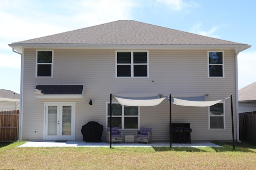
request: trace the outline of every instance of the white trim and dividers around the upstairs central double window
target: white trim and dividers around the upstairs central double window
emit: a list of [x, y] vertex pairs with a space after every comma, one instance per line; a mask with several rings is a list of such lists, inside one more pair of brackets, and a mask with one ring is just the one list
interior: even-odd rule
[[[117, 52], [131, 52], [131, 64], [130, 64], [131, 65], [131, 76], [130, 77], [128, 77], [128, 76], [118, 77], [117, 76], [117, 65], [128, 65], [128, 64], [118, 64], [117, 63]], [[141, 63], [141, 64], [136, 63], [136, 64], [134, 64], [134, 62], [133, 62], [133, 52], [147, 52], [147, 63]], [[115, 57], [116, 78], [149, 78], [149, 51], [148, 50], [116, 50], [115, 55], [116, 55], [116, 57]], [[133, 70], [134, 65], [147, 65], [147, 76], [135, 76], [134, 77], [134, 70]]]

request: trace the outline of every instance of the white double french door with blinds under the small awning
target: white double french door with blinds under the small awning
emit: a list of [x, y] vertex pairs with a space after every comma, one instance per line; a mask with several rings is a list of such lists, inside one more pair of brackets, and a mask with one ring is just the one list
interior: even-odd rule
[[45, 102], [45, 140], [74, 140], [74, 102]]

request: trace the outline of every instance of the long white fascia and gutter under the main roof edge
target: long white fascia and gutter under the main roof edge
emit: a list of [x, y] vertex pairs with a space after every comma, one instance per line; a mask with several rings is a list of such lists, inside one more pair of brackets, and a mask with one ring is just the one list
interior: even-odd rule
[[8, 44], [16, 51], [23, 48], [47, 48], [47, 49], [238, 49], [241, 51], [250, 48], [250, 45], [137, 45], [137, 44]]

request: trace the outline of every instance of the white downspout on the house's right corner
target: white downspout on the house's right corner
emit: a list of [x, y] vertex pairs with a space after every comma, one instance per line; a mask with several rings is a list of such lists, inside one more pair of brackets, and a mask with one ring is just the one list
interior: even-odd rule
[[240, 134], [239, 134], [239, 113], [238, 113], [238, 54], [241, 52], [241, 48], [239, 47], [236, 49], [236, 140], [238, 143], [240, 141]]

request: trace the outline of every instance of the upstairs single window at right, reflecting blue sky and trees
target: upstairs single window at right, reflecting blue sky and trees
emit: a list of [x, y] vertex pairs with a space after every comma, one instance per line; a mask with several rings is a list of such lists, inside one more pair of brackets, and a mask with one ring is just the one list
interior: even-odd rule
[[224, 77], [224, 51], [208, 51], [208, 77]]

